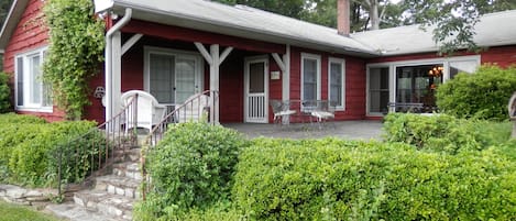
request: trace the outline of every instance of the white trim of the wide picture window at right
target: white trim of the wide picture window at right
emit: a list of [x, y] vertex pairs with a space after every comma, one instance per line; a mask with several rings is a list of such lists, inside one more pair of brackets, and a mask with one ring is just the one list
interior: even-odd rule
[[427, 59], [409, 59], [409, 60], [396, 60], [396, 62], [385, 62], [385, 63], [371, 63], [365, 66], [366, 69], [366, 115], [367, 117], [380, 117], [383, 115], [377, 112], [370, 112], [370, 69], [378, 67], [388, 67], [388, 79], [389, 79], [389, 102], [396, 100], [396, 68], [404, 66], [420, 66], [420, 65], [432, 65], [432, 64], [442, 64], [444, 67], [442, 80], [446, 82], [450, 79], [450, 63], [452, 62], [465, 62], [465, 60], [476, 60], [477, 66], [481, 66], [481, 55], [465, 55], [465, 56], [454, 56], [454, 57], [438, 57], [438, 58], [427, 58]]

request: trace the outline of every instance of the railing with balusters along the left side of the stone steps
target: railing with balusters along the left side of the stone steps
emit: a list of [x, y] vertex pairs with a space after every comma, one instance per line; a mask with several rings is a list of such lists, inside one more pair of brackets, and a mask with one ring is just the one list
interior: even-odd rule
[[[63, 196], [63, 184], [85, 184], [89, 177], [106, 173], [113, 163], [114, 150], [122, 153], [138, 145], [138, 95], [125, 103], [113, 118], [89, 130], [87, 133], [57, 146], [57, 191]], [[128, 121], [128, 118], [133, 118]], [[131, 130], [125, 130], [130, 128]]]

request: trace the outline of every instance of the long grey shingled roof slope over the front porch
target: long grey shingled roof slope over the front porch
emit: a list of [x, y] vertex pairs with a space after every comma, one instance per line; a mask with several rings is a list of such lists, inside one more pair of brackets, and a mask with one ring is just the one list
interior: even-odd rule
[[113, 0], [117, 13], [123, 13], [125, 8], [133, 10], [133, 19], [143, 21], [361, 57], [380, 55], [359, 41], [339, 35], [334, 29], [245, 5], [206, 0]]

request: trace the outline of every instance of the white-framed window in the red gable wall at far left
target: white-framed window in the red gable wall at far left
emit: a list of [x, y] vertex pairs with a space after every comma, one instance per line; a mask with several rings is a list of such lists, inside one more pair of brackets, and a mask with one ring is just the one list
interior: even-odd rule
[[44, 54], [40, 49], [15, 58], [17, 110], [52, 111], [51, 89], [42, 79]]

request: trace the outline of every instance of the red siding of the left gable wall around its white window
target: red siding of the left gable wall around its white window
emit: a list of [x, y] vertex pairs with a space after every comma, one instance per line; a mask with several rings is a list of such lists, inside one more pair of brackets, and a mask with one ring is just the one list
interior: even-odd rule
[[[44, 24], [43, 8], [44, 1], [31, 0], [12, 34], [3, 55], [3, 71], [11, 74], [11, 82], [14, 82], [14, 57], [19, 54], [28, 53], [46, 46], [48, 34]], [[12, 91], [14, 95], [14, 91]], [[64, 118], [64, 112], [54, 107], [52, 113], [19, 111], [19, 113], [39, 115], [47, 121], [59, 121]]]

